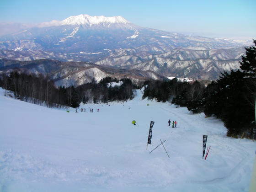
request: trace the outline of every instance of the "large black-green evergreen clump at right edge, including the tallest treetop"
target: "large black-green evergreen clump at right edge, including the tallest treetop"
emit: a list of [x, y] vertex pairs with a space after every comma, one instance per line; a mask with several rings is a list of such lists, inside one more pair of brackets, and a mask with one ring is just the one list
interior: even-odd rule
[[[254, 40], [256, 45], [256, 41]], [[245, 133], [253, 136], [255, 128], [255, 96], [256, 96], [256, 48], [245, 48], [245, 57], [240, 62], [240, 70], [230, 74], [224, 72], [216, 84], [212, 83], [208, 90], [204, 112], [214, 115], [224, 122], [227, 135], [236, 137]]]

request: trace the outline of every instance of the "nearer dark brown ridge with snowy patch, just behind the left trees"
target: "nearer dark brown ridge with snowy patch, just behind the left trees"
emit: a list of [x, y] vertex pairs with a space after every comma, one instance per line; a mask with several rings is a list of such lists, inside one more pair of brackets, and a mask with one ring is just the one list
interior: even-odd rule
[[105, 77], [121, 80], [128, 78], [136, 85], [143, 84], [145, 80], [165, 80], [165, 76], [152, 70], [118, 69], [106, 65], [96, 65], [85, 62], [61, 62], [57, 60], [39, 59], [33, 61], [15, 61], [0, 59], [1, 73], [11, 71], [29, 72], [33, 74], [48, 75], [59, 86], [78, 86], [90, 83], [92, 80], [99, 82]]

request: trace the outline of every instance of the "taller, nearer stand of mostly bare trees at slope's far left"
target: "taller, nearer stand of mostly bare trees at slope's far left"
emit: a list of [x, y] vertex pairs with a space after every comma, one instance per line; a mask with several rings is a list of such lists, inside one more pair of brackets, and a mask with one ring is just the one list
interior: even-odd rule
[[0, 86], [6, 90], [6, 96], [10, 95], [21, 101], [47, 107], [78, 107], [80, 103], [73, 86], [56, 88], [53, 80], [41, 74], [33, 75], [17, 71], [8, 75], [3, 74], [0, 78]]

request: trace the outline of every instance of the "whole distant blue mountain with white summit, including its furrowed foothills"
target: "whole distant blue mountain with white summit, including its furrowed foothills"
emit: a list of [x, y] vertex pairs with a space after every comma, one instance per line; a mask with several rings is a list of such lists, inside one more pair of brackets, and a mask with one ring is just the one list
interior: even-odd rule
[[79, 15], [1, 36], [0, 58], [85, 61], [151, 69], [166, 76], [216, 79], [223, 69], [237, 69], [244, 47], [251, 44], [139, 27], [121, 16]]

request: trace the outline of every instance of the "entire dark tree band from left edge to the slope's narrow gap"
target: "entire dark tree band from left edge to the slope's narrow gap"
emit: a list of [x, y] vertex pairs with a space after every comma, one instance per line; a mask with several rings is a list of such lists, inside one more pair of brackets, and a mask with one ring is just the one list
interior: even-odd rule
[[[0, 86], [6, 90], [5, 95], [16, 97], [22, 101], [48, 107], [79, 107], [80, 102], [94, 103], [109, 101], [126, 101], [133, 98], [133, 85], [131, 80], [123, 79], [120, 86], [108, 86], [116, 81], [107, 77], [99, 83], [92, 81], [79, 87], [70, 86], [56, 88], [54, 81], [43, 75], [11, 72], [0, 77]], [[7, 93], [7, 91], [9, 93]]]

